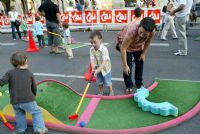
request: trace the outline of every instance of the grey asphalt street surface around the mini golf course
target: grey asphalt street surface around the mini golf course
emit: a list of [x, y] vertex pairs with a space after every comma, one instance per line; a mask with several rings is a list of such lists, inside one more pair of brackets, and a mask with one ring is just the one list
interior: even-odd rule
[[[122, 64], [120, 53], [115, 50], [116, 31], [102, 32], [103, 42], [108, 43], [112, 63], [113, 89], [115, 95], [124, 94], [122, 79]], [[148, 87], [156, 78], [200, 81], [200, 42], [194, 41], [200, 35], [200, 31], [189, 30], [187, 56], [174, 56], [178, 49], [177, 40], [160, 41], [155, 38], [144, 64], [144, 85]], [[72, 32], [72, 37], [77, 41], [89, 43], [89, 32]], [[156, 36], [157, 37], [157, 36]], [[13, 41], [11, 34], [0, 34], [0, 76], [12, 68], [9, 58], [15, 51], [25, 51], [28, 42], [22, 40]], [[27, 53], [29, 57], [29, 69], [35, 74], [37, 82], [44, 79], [55, 79], [66, 83], [79, 93], [83, 93], [87, 82], [81, 77], [89, 69], [89, 47], [74, 50], [75, 58], [69, 60], [64, 54], [50, 55], [48, 48], [37, 53]], [[43, 76], [42, 76], [43, 75]], [[49, 75], [49, 76], [44, 76]], [[73, 77], [72, 77], [73, 75]], [[89, 87], [89, 94], [97, 94], [98, 88], [95, 83]], [[108, 90], [105, 91], [105, 95]], [[197, 134], [200, 131], [200, 113], [192, 119], [157, 134]], [[32, 127], [28, 128], [27, 134], [32, 133]], [[0, 134], [10, 132], [0, 123]], [[49, 131], [49, 134], [66, 134], [63, 132]]]

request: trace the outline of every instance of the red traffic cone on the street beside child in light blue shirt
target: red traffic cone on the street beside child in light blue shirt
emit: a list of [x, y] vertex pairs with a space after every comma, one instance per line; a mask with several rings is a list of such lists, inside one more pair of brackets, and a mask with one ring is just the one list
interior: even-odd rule
[[33, 35], [31, 30], [28, 30], [28, 38], [29, 38], [29, 48], [26, 49], [26, 52], [38, 52], [39, 48], [35, 45], [35, 41], [33, 39]]

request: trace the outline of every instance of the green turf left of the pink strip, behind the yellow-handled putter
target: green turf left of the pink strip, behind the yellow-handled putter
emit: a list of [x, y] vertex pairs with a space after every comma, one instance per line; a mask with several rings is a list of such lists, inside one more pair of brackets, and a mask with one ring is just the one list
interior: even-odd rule
[[[67, 125], [75, 125], [77, 120], [71, 121], [68, 116], [75, 113], [80, 99], [80, 96], [58, 83], [48, 82], [38, 85], [36, 99], [38, 105]], [[90, 100], [84, 99], [79, 115], [85, 110]]]

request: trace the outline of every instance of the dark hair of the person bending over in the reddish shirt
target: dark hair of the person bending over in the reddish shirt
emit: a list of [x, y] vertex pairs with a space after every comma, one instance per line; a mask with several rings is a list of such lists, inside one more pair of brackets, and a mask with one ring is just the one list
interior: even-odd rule
[[145, 17], [141, 20], [139, 27], [143, 27], [147, 32], [152, 32], [156, 28], [156, 24], [152, 17]]

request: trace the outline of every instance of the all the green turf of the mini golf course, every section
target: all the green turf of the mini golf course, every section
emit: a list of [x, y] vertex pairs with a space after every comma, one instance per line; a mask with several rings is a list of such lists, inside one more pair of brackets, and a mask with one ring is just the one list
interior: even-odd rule
[[[200, 82], [157, 80], [158, 86], [150, 92], [147, 100], [152, 102], [169, 101], [179, 109], [179, 116], [188, 112], [200, 101]], [[7, 86], [1, 87], [3, 96], [0, 97], [0, 110], [9, 104], [9, 96], [5, 91]], [[67, 125], [75, 125], [68, 116], [73, 114], [81, 97], [68, 88], [52, 82], [38, 85], [36, 101], [38, 105], [49, 111], [58, 120]], [[91, 99], [84, 99], [79, 117]], [[150, 112], [143, 112], [137, 103], [131, 99], [101, 100], [88, 128], [94, 129], [130, 129], [151, 126], [175, 119], [176, 117], [163, 117]]]

